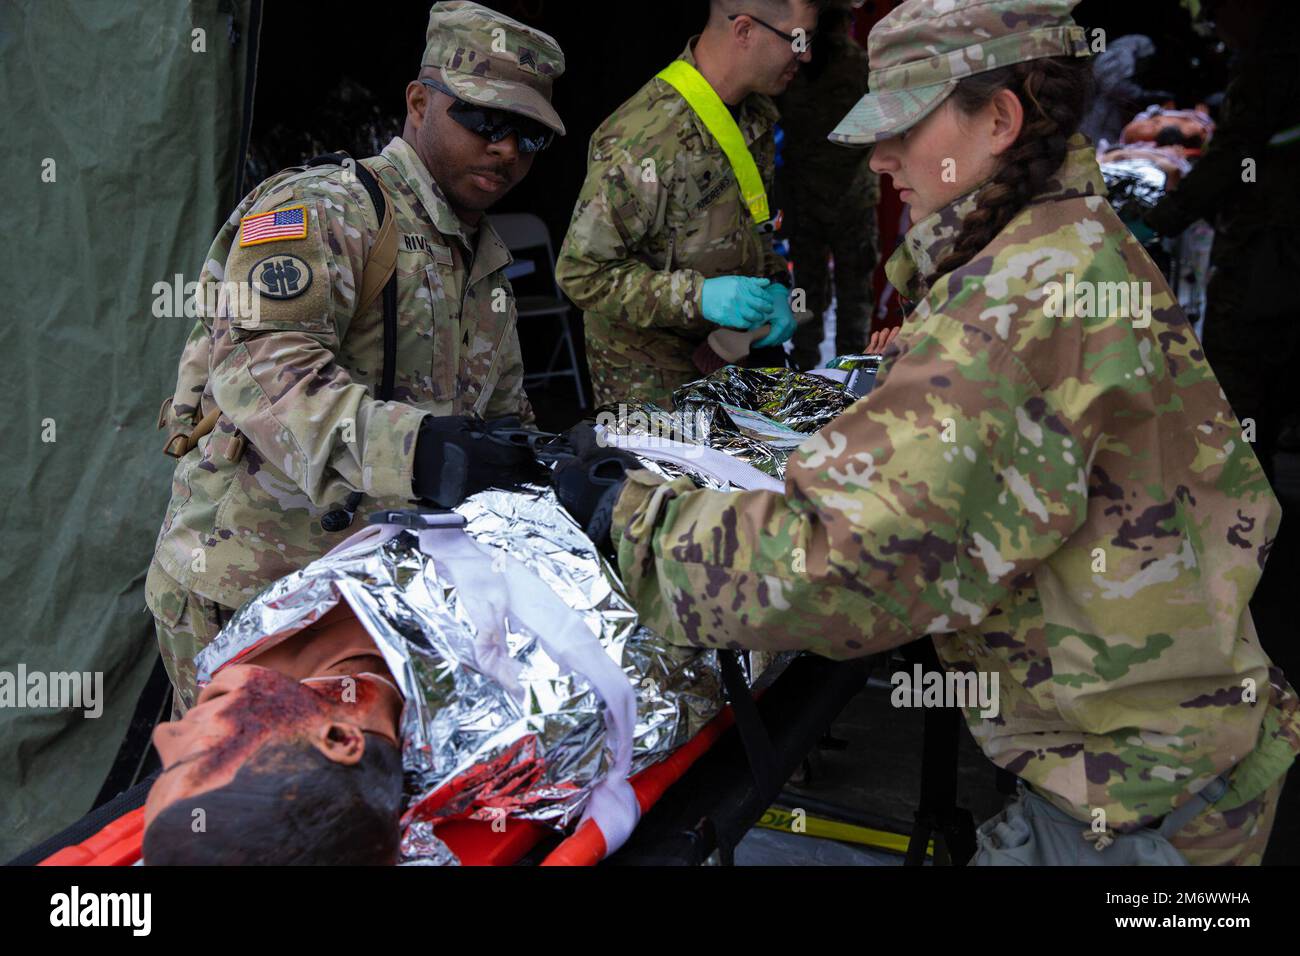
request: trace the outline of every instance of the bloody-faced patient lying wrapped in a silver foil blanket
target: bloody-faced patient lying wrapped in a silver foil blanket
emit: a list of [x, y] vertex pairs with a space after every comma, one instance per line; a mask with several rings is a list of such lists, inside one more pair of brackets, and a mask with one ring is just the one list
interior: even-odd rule
[[627, 778], [722, 709], [716, 658], [637, 623], [549, 489], [463, 512], [359, 532], [199, 653], [155, 734], [146, 864], [441, 865], [442, 822], [499, 812], [629, 831]]

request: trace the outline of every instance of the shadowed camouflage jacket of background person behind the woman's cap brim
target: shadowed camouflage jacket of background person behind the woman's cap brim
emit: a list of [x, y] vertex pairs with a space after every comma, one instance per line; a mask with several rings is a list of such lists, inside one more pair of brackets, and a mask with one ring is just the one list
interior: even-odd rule
[[[811, 66], [800, 68], [776, 99], [785, 131], [783, 165], [776, 170], [783, 203], [788, 203], [785, 232], [805, 212], [820, 222], [861, 220], [880, 199], [880, 181], [868, 165], [871, 151], [827, 139], [868, 92], [867, 51], [846, 33], [818, 36], [814, 49]], [[867, 228], [866, 222], [854, 225]]]

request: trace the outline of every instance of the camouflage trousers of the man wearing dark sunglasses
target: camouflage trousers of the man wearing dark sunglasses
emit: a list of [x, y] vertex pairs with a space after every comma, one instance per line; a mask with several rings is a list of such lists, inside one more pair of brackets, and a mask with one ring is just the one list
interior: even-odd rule
[[150, 564], [144, 579], [144, 602], [157, 627], [159, 653], [172, 679], [172, 719], [177, 719], [198, 697], [194, 658], [212, 643], [235, 609], [185, 588], [157, 561]]

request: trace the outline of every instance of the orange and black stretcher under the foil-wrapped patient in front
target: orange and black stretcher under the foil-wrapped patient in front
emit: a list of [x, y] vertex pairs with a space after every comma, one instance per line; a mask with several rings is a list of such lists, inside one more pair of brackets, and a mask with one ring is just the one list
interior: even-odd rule
[[[781, 786], [857, 695], [875, 658], [793, 661], [753, 702], [744, 732], [725, 708], [685, 745], [632, 778], [642, 818], [610, 865], [694, 865], [715, 852], [731, 862], [744, 834], [776, 800]], [[755, 739], [758, 737], [758, 739]], [[757, 749], [766, 747], [766, 753]], [[762, 756], [759, 756], [762, 754]], [[758, 766], [764, 767], [758, 770]], [[130, 866], [140, 861], [144, 800], [153, 777], [92, 810], [10, 865]], [[540, 823], [452, 819], [437, 829], [465, 865], [592, 866], [606, 855], [593, 821], [560, 836]]]

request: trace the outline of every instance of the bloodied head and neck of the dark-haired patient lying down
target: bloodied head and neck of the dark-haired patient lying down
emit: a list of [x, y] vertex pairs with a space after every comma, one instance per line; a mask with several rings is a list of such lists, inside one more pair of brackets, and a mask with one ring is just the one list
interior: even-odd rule
[[403, 700], [344, 604], [159, 724], [144, 862], [393, 864]]

